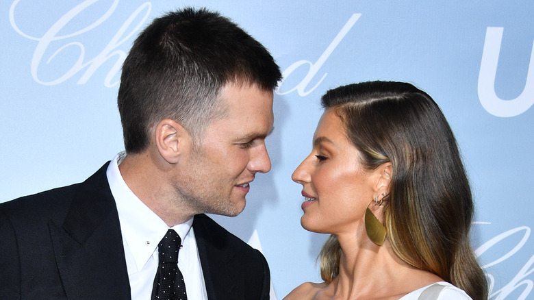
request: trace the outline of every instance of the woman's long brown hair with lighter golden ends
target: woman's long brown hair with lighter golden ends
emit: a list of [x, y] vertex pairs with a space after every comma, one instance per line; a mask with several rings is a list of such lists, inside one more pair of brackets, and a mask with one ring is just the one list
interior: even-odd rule
[[[383, 220], [394, 253], [473, 299], [487, 299], [485, 275], [470, 245], [474, 205], [468, 178], [433, 99], [403, 82], [363, 82], [329, 90], [322, 105], [340, 116], [368, 170], [392, 163]], [[338, 275], [340, 253], [331, 236], [320, 253], [326, 282]]]

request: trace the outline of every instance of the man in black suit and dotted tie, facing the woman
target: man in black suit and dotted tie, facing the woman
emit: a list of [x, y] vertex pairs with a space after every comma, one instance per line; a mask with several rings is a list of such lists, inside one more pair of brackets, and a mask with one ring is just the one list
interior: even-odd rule
[[268, 51], [217, 13], [155, 19], [123, 66], [125, 153], [81, 184], [0, 205], [0, 299], [175, 299], [167, 288], [268, 299], [263, 255], [205, 213], [236, 216], [270, 170], [280, 78]]

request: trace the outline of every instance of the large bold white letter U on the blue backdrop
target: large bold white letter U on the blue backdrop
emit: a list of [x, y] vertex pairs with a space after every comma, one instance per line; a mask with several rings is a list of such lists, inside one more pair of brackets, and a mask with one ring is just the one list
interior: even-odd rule
[[479, 99], [483, 108], [494, 116], [517, 116], [534, 104], [534, 46], [524, 90], [516, 99], [503, 100], [495, 93], [495, 76], [503, 40], [503, 27], [487, 27], [479, 73]]

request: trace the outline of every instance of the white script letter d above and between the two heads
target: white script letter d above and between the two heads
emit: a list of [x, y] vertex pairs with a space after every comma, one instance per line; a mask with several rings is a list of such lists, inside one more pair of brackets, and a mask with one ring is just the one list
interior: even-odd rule
[[[332, 42], [327, 47], [325, 52], [323, 52], [322, 55], [320, 55], [319, 59], [317, 60], [317, 62], [315, 64], [312, 64], [312, 62], [310, 62], [309, 60], [299, 60], [298, 62], [294, 62], [293, 64], [288, 66], [288, 68], [286, 68], [282, 72], [283, 79], [282, 79], [282, 82], [280, 83], [279, 87], [277, 88], [277, 94], [278, 95], [286, 95], [286, 94], [289, 94], [290, 92], [293, 92], [294, 90], [296, 90], [298, 92], [299, 96], [305, 97], [310, 92], [313, 92], [319, 86], [319, 84], [322, 82], [322, 80], [325, 79], [325, 77], [327, 77], [327, 73], [325, 73], [325, 75], [322, 75], [321, 79], [317, 82], [317, 84], [313, 88], [310, 88], [307, 91], [305, 90], [305, 88], [307, 87], [309, 82], [312, 80], [312, 78], [314, 78], [314, 76], [317, 74], [317, 72], [319, 71], [319, 69], [322, 66], [322, 64], [325, 64], [325, 62], [327, 61], [329, 56], [334, 51], [335, 47], [338, 47], [338, 45], [343, 40], [343, 38], [346, 36], [348, 31], [351, 30], [351, 28], [354, 26], [356, 21], [358, 21], [358, 18], [360, 16], [361, 16], [361, 14], [353, 14], [351, 16], [351, 18], [348, 19], [347, 23], [343, 26], [343, 28], [338, 33], [338, 35], [335, 36], [335, 38], [332, 40]], [[299, 84], [297, 84], [296, 86], [294, 86], [294, 88], [288, 90], [287, 92], [281, 92], [280, 89], [282, 88], [283, 83], [285, 82], [285, 79], [288, 78], [289, 75], [291, 75], [291, 73], [293, 73], [293, 71], [295, 71], [298, 67], [303, 66], [305, 64], [307, 64], [309, 66], [309, 70], [308, 70], [308, 73], [306, 74], [306, 76], [304, 77], [304, 79], [302, 79], [302, 81]]]

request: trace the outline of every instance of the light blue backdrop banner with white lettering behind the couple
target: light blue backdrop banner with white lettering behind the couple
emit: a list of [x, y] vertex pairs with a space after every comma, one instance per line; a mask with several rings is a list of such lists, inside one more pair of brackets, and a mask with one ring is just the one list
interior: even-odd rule
[[327, 236], [301, 228], [291, 180], [319, 99], [374, 79], [410, 82], [440, 105], [472, 183], [472, 242], [491, 299], [534, 299], [533, 1], [1, 1], [0, 202], [81, 182], [123, 150], [120, 66], [142, 28], [185, 6], [228, 16], [283, 71], [272, 170], [240, 216], [214, 217], [262, 249], [272, 299], [320, 282]]

